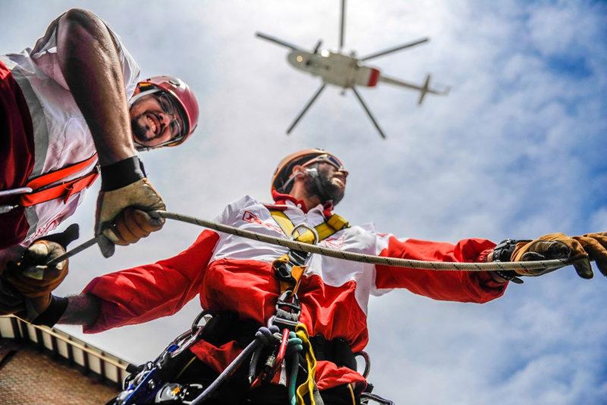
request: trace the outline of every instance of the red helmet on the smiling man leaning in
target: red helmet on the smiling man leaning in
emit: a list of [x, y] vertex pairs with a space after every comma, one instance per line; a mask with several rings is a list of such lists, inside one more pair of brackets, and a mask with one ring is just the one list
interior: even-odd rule
[[196, 129], [196, 126], [198, 125], [198, 101], [196, 101], [196, 96], [185, 81], [176, 77], [154, 76], [137, 83], [138, 92], [148, 90], [151, 86], [157, 87], [170, 94], [181, 107], [183, 120], [186, 126], [183, 135], [173, 138], [170, 143], [162, 146], [179, 145], [194, 132], [194, 129]]

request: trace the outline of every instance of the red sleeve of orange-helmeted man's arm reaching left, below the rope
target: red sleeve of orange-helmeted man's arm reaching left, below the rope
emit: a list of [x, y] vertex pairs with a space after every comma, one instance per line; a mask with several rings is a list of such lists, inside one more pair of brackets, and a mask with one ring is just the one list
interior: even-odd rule
[[217, 240], [217, 233], [204, 231], [177, 256], [93, 279], [83, 293], [101, 299], [101, 313], [95, 324], [83, 327], [84, 333], [173, 315], [198, 294]]

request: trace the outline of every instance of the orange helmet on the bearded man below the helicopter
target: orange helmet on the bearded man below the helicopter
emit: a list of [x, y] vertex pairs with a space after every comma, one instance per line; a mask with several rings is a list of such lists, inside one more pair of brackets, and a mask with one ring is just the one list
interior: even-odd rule
[[287, 157], [280, 160], [274, 175], [272, 177], [271, 191], [276, 190], [277, 192], [289, 192], [291, 189], [291, 182], [293, 181], [293, 166], [295, 165], [310, 165], [314, 162], [326, 162], [335, 166], [338, 169], [342, 169], [344, 164], [331, 152], [327, 152], [324, 149], [304, 149], [303, 151], [293, 152]]

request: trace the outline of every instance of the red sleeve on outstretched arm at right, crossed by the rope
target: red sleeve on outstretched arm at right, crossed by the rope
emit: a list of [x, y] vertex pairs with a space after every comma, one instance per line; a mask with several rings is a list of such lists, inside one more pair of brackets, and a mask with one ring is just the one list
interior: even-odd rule
[[[495, 247], [485, 239], [464, 239], [455, 245], [444, 242], [386, 236], [387, 248], [380, 256], [435, 262], [478, 262], [483, 251]], [[500, 297], [506, 284], [493, 282], [486, 271], [435, 271], [376, 265], [375, 287], [407, 288], [433, 299], [461, 302], [487, 302]], [[381, 293], [381, 291], [378, 291]]]

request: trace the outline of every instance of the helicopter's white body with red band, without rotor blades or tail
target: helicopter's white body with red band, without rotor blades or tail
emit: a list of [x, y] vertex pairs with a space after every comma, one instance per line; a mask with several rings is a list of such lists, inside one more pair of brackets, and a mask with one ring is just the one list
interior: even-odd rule
[[350, 88], [352, 86], [375, 87], [379, 70], [368, 67], [353, 56], [322, 50], [319, 53], [294, 50], [287, 61], [297, 70], [319, 76], [325, 83]]

